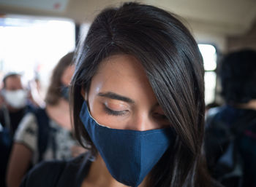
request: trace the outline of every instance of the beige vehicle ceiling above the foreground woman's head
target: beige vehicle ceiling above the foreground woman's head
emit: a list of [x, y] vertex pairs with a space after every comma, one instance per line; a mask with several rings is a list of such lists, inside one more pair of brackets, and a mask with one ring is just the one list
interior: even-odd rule
[[[89, 23], [102, 8], [118, 6], [122, 1], [44, 0], [43, 2], [0, 0], [0, 13], [69, 17], [77, 23]], [[249, 31], [256, 20], [256, 0], [144, 0], [140, 2], [162, 7], [184, 17], [185, 24], [195, 32], [238, 36]]]

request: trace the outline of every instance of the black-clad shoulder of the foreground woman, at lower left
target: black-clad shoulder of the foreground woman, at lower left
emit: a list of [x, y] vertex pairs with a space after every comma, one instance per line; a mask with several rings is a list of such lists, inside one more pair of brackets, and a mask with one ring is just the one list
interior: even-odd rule
[[20, 187], [74, 186], [74, 183], [78, 182], [76, 180], [85, 177], [84, 171], [89, 169], [88, 156], [87, 153], [69, 161], [48, 161], [37, 164], [23, 179]]

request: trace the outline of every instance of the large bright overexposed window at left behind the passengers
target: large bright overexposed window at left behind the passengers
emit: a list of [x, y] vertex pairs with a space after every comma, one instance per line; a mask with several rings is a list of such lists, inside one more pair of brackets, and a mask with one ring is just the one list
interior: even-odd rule
[[[54, 18], [53, 18], [54, 19]], [[70, 20], [10, 15], [0, 17], [0, 73], [14, 71], [23, 79], [40, 77], [43, 87], [59, 59], [75, 49]]]

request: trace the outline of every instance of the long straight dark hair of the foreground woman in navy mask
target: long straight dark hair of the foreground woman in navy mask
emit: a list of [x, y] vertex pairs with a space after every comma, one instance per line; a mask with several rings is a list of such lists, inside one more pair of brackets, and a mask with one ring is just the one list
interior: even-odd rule
[[80, 143], [95, 147], [80, 121], [81, 89], [88, 91], [91, 79], [106, 57], [128, 54], [143, 65], [148, 80], [177, 132], [174, 150], [168, 150], [150, 173], [148, 186], [211, 186], [204, 170], [203, 60], [187, 28], [163, 9], [125, 3], [104, 9], [80, 43], [72, 79], [72, 111]]

